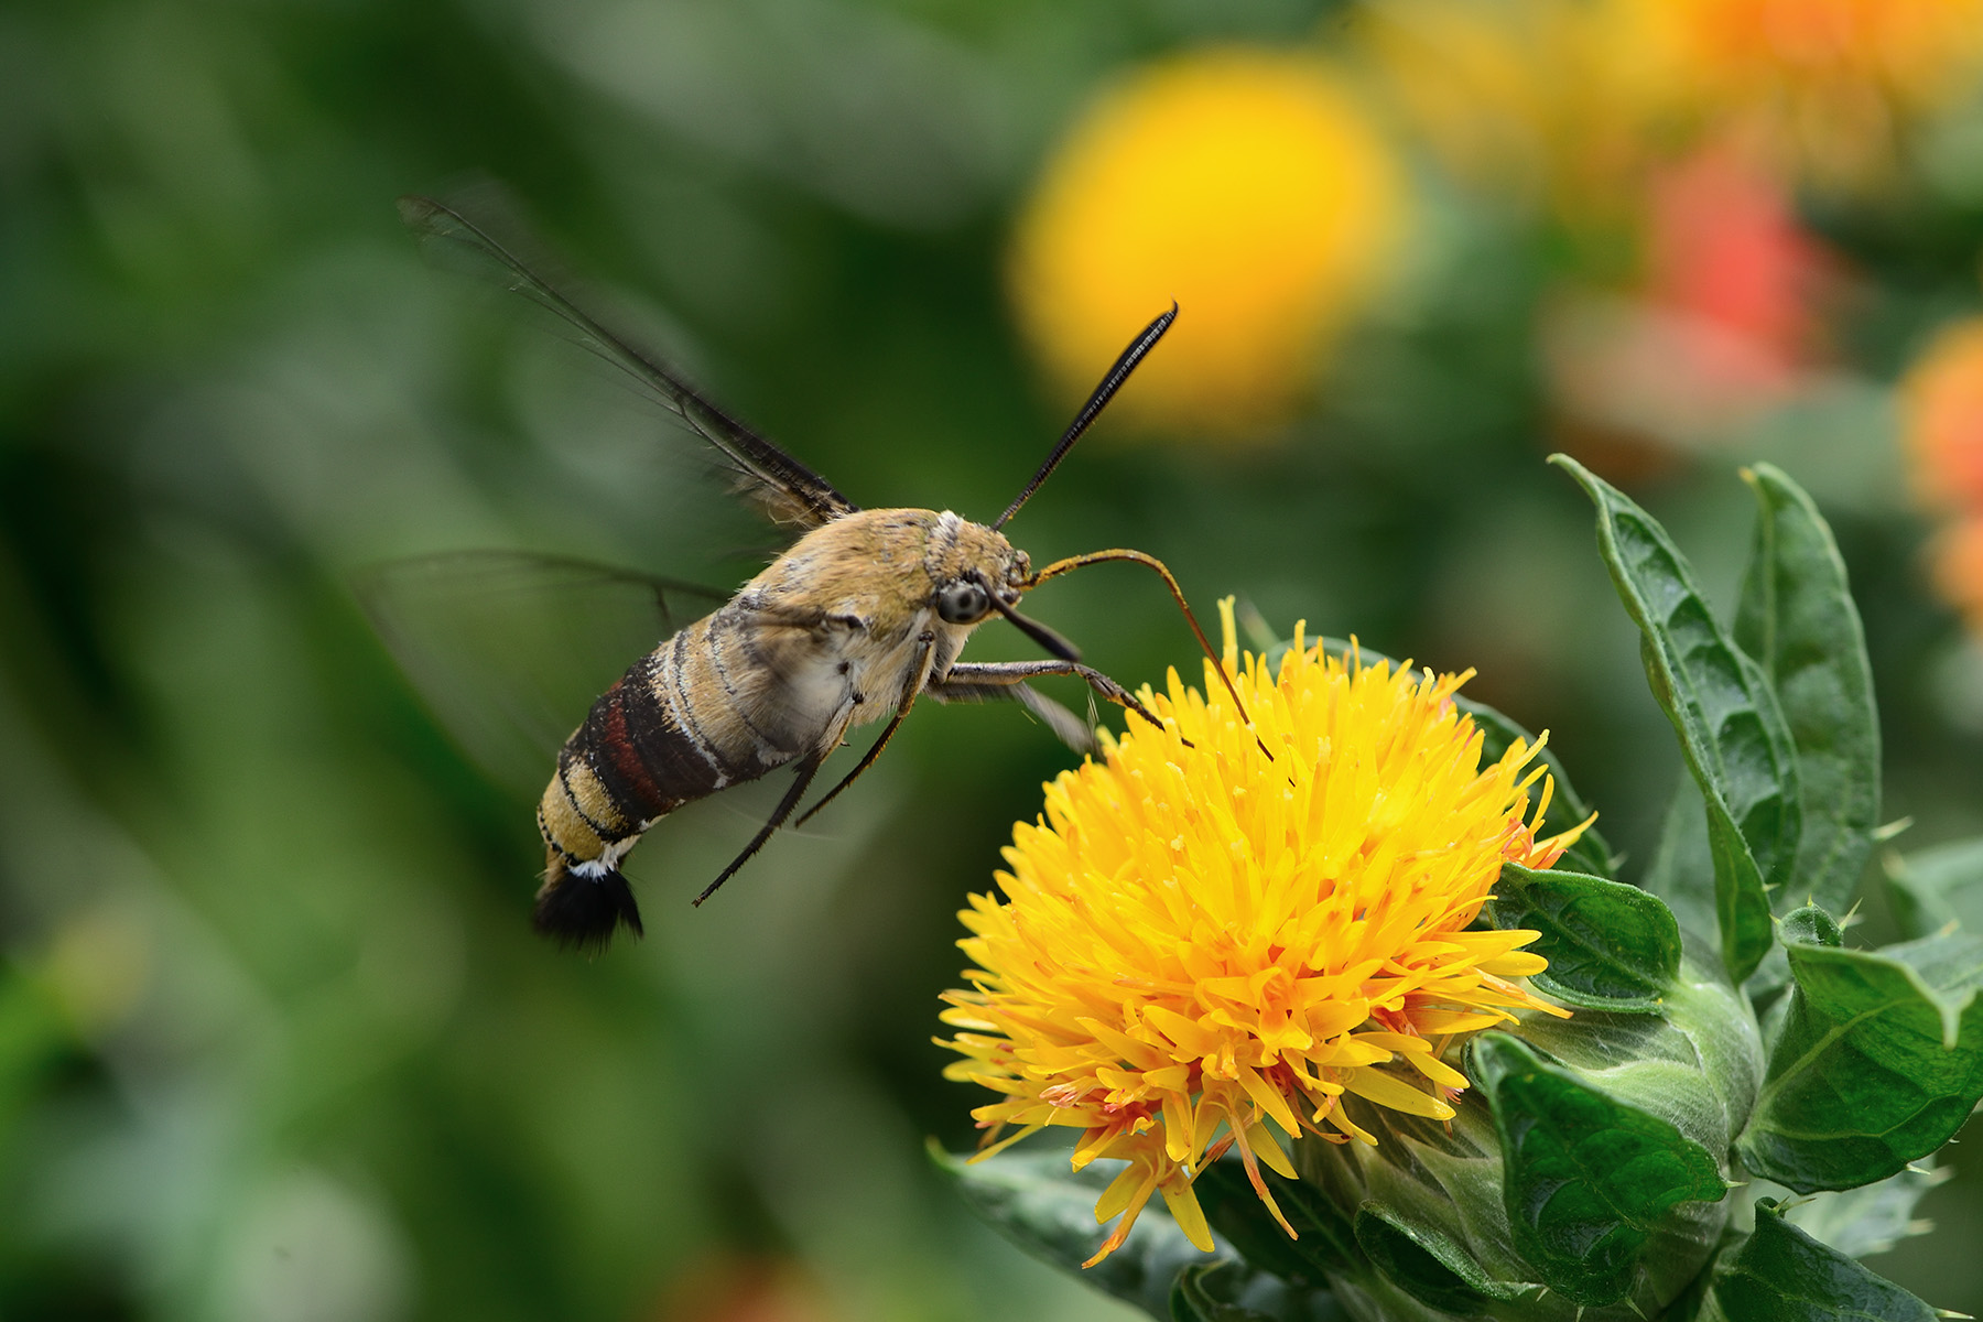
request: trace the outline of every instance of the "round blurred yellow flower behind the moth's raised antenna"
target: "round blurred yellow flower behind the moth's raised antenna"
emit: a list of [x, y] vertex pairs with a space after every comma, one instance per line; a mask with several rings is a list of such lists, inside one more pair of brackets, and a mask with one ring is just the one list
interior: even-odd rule
[[1301, 402], [1406, 220], [1400, 166], [1321, 61], [1204, 50], [1103, 95], [1019, 218], [1019, 323], [1069, 394], [1182, 307], [1116, 408], [1257, 436]]

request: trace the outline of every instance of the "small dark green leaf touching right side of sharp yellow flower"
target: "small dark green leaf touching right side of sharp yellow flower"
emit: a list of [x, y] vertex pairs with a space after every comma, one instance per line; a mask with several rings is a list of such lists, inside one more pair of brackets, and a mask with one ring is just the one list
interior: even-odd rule
[[1487, 906], [1495, 928], [1533, 928], [1549, 959], [1535, 985], [1569, 1005], [1658, 1011], [1680, 971], [1680, 926], [1638, 886], [1509, 862]]

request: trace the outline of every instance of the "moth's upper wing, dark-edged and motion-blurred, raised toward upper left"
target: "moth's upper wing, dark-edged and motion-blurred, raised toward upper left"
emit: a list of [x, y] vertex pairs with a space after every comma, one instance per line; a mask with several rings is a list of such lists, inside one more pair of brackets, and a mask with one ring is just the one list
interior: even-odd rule
[[399, 214], [430, 250], [482, 270], [569, 323], [587, 349], [631, 375], [662, 408], [716, 446], [736, 472], [740, 490], [779, 523], [819, 527], [859, 509], [831, 482], [726, 414], [654, 355], [579, 307], [482, 224], [446, 202], [416, 196], [401, 198]]

